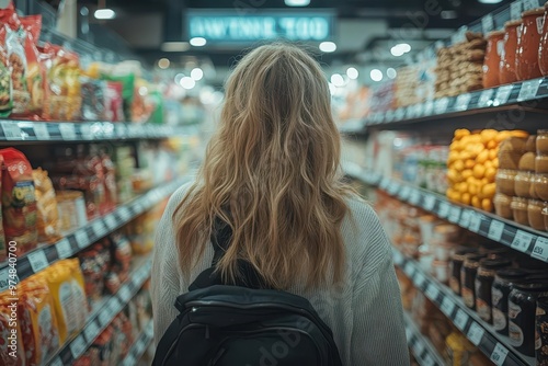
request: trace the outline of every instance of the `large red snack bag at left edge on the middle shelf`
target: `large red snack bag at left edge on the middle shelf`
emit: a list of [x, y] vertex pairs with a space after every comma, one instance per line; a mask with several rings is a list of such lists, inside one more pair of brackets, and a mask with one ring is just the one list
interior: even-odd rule
[[2, 216], [5, 241], [15, 241], [21, 255], [36, 248], [36, 196], [32, 167], [25, 156], [13, 148], [0, 150], [3, 158]]

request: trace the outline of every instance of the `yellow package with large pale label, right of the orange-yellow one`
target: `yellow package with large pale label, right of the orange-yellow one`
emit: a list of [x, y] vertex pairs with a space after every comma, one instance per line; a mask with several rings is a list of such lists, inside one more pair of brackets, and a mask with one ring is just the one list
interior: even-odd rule
[[85, 294], [78, 260], [57, 262], [44, 272], [58, 320], [60, 343], [79, 333], [87, 317]]

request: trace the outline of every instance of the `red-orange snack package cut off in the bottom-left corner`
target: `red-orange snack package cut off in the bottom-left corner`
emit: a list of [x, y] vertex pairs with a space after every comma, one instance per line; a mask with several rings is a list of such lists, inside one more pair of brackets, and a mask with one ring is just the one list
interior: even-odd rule
[[[25, 351], [21, 340], [18, 308], [13, 305], [9, 291], [0, 294], [0, 364], [4, 366], [24, 366]], [[12, 316], [15, 316], [12, 318]]]

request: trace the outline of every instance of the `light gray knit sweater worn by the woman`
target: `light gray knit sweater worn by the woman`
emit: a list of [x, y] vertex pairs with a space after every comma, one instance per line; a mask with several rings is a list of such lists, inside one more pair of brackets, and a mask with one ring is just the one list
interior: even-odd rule
[[[189, 290], [190, 283], [178, 265], [172, 224], [173, 210], [187, 187], [173, 194], [157, 228], [151, 274], [156, 343], [178, 314], [175, 298]], [[309, 291], [296, 284], [289, 291], [307, 298], [331, 328], [344, 366], [409, 365], [390, 242], [368, 205], [358, 199], [350, 199], [349, 205], [352, 215], [342, 226], [346, 247], [343, 284]], [[213, 247], [207, 245], [192, 279], [210, 266], [213, 255]]]

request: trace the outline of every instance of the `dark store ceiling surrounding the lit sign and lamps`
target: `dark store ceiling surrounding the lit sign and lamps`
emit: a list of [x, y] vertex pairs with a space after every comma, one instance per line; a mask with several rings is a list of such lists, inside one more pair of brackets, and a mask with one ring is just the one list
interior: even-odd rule
[[[333, 9], [336, 16], [334, 38], [336, 52], [323, 54], [321, 61], [338, 64], [379, 64], [396, 67], [404, 57], [390, 49], [398, 43], [411, 45], [411, 53], [433, 41], [448, 37], [460, 25], [504, 5], [483, 4], [480, 0], [310, 0], [302, 9]], [[92, 10], [96, 1], [79, 1]], [[189, 9], [246, 10], [246, 14], [264, 9], [292, 10], [284, 0], [106, 0], [105, 7], [116, 11], [116, 19], [101, 22], [118, 33], [128, 45], [150, 64], [167, 57], [172, 65], [189, 57], [206, 58], [216, 68], [229, 67], [241, 53], [242, 45], [191, 47], [186, 52], [165, 53], [165, 41], [183, 39], [184, 19]], [[91, 20], [91, 22], [96, 22]], [[312, 44], [317, 47], [317, 44]]]

